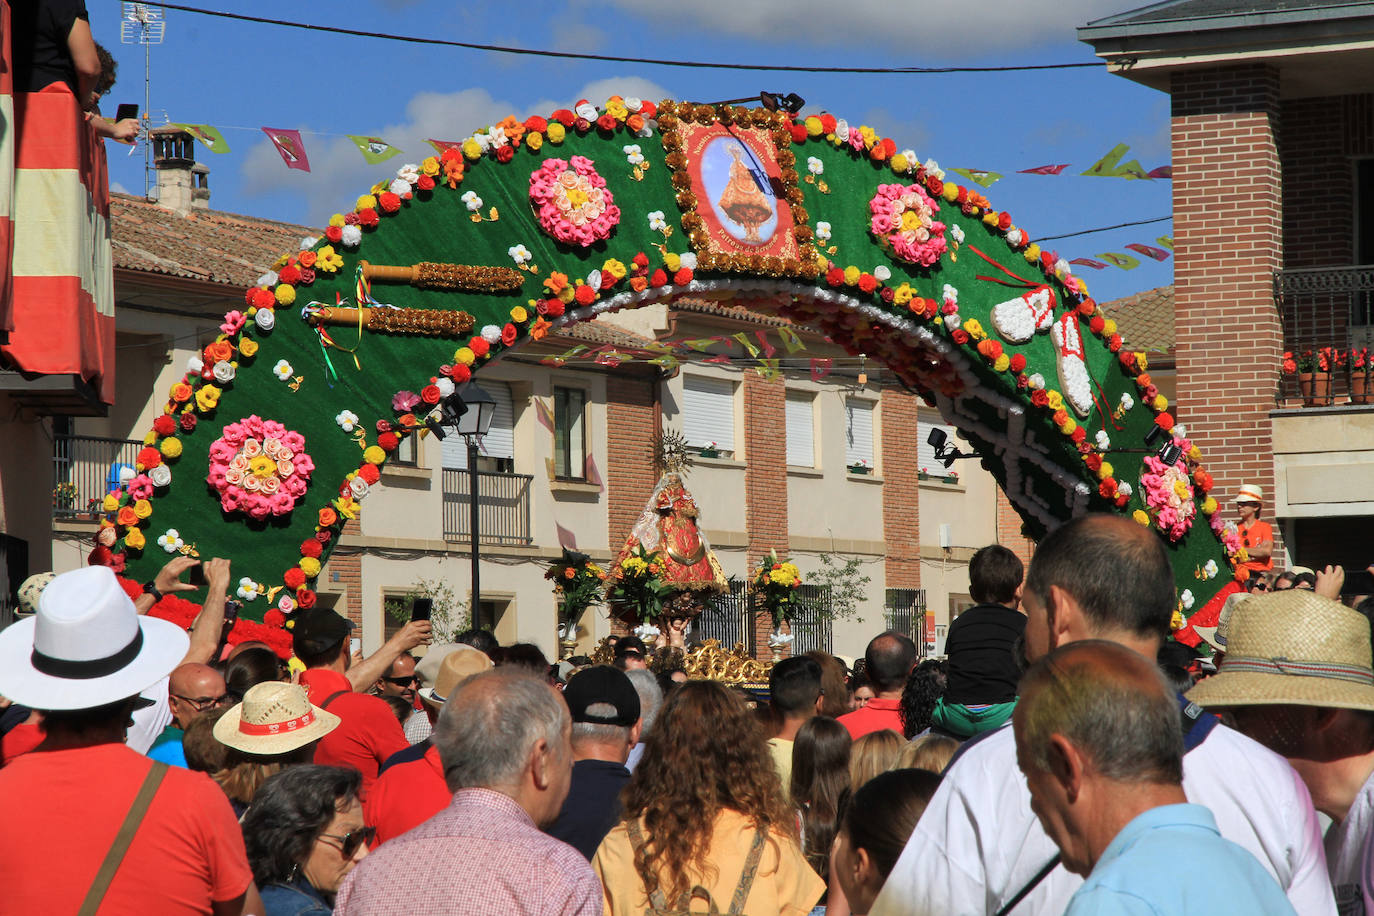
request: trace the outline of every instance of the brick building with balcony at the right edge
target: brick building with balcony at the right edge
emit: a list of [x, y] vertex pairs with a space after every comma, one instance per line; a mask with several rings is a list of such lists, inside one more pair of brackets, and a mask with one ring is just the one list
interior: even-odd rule
[[1079, 29], [1171, 96], [1179, 419], [1220, 493], [1265, 489], [1305, 566], [1371, 559], [1369, 408], [1345, 371], [1307, 408], [1282, 372], [1285, 352], [1374, 343], [1371, 34], [1369, 4], [1340, 0], [1175, 0]]

